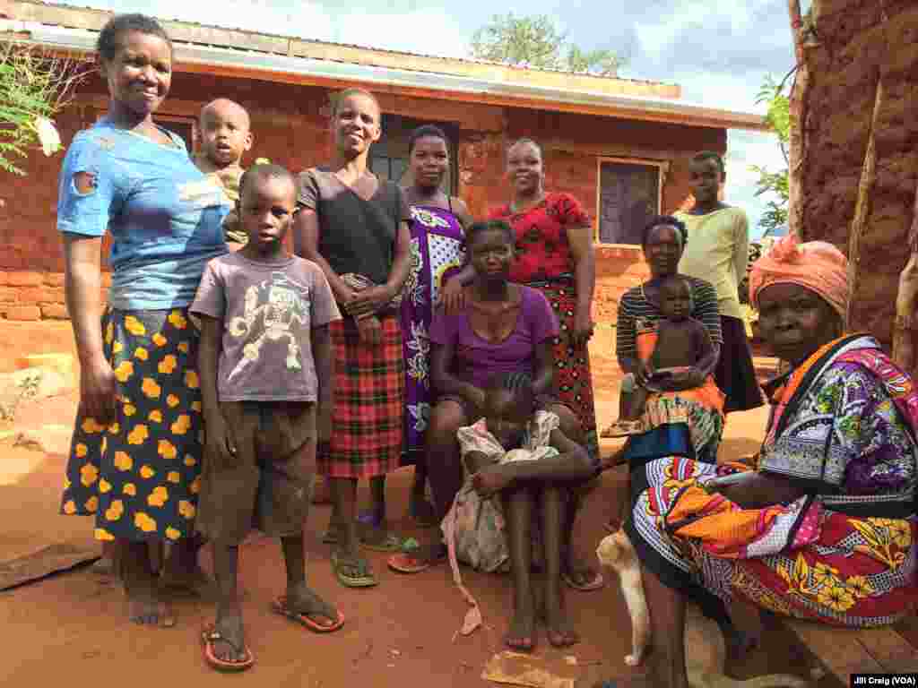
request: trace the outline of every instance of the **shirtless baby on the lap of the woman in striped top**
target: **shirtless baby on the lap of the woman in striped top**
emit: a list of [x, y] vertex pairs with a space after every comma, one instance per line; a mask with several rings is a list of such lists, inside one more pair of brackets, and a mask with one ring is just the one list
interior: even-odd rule
[[708, 330], [693, 318], [691, 286], [678, 275], [660, 285], [661, 319], [656, 324], [656, 342], [642, 369], [621, 381], [619, 420], [610, 427], [611, 437], [644, 432], [642, 417], [651, 394], [675, 390], [680, 373], [698, 366], [711, 354]]

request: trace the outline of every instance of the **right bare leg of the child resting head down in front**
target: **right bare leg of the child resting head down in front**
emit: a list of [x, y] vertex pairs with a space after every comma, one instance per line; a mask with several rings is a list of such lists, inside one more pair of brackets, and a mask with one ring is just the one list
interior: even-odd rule
[[555, 648], [565, 648], [577, 643], [577, 633], [570, 626], [565, 613], [564, 592], [561, 589], [562, 543], [569, 536], [563, 528], [566, 522], [567, 499], [565, 491], [556, 484], [544, 483], [542, 487], [542, 538], [545, 559], [545, 625], [548, 642]]

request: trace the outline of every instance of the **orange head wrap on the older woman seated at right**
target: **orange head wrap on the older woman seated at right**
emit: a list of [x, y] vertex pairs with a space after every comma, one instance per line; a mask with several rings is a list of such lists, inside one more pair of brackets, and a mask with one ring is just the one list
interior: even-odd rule
[[819, 294], [845, 322], [848, 261], [825, 241], [800, 242], [796, 234], [780, 239], [758, 259], [749, 273], [749, 299], [758, 308], [758, 294], [772, 284], [799, 284]]

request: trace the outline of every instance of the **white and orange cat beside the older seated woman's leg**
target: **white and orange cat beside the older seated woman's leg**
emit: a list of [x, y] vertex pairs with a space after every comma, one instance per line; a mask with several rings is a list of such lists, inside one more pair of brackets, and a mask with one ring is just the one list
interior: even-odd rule
[[[651, 626], [637, 553], [620, 529], [602, 539], [596, 555], [599, 563], [619, 574], [621, 594], [632, 621], [632, 652], [625, 655], [625, 664], [638, 666], [650, 649]], [[810, 685], [789, 674], [773, 673], [746, 681], [725, 675], [727, 652], [722, 632], [717, 623], [702, 615], [695, 605], [689, 605], [686, 610], [685, 642], [686, 669], [692, 688], [806, 688]]]

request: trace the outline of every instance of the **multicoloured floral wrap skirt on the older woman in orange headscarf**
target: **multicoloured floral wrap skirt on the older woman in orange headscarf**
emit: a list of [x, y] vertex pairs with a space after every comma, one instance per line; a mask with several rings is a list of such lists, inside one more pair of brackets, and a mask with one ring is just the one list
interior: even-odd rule
[[662, 583], [845, 627], [886, 626], [918, 604], [915, 516], [847, 516], [812, 498], [741, 509], [700, 488], [737, 470], [671, 458], [632, 472], [624, 529]]

